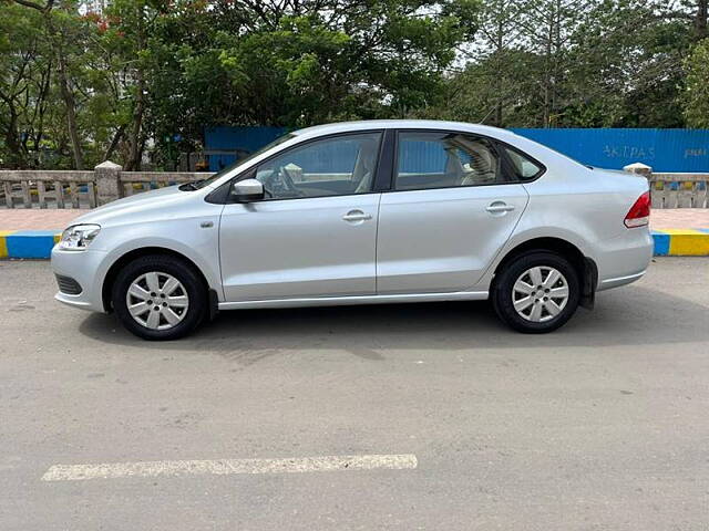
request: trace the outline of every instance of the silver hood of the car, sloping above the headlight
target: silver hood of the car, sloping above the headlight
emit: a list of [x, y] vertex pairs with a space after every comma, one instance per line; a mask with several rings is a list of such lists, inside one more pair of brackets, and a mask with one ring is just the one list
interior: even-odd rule
[[102, 207], [94, 208], [72, 220], [71, 225], [97, 223], [104, 226], [116, 221], [122, 222], [124, 221], [123, 218], [143, 217], [145, 212], [154, 212], [156, 209], [164, 208], [167, 205], [183, 201], [193, 194], [194, 191], [181, 190], [178, 186], [142, 191], [135, 196], [124, 197], [123, 199], [117, 199]]

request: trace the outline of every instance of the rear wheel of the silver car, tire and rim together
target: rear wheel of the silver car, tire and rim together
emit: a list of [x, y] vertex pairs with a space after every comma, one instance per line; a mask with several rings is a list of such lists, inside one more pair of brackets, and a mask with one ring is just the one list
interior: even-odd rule
[[[553, 271], [561, 274], [556, 281]], [[537, 285], [533, 285], [534, 280]], [[566, 299], [562, 296], [564, 289]], [[561, 254], [530, 251], [513, 259], [497, 273], [491, 299], [497, 316], [512, 329], [527, 334], [552, 332], [564, 325], [578, 308], [578, 273]]]

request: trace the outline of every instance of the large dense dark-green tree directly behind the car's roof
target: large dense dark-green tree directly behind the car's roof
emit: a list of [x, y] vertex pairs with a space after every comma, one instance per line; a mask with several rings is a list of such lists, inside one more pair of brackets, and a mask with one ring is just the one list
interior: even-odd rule
[[174, 2], [148, 41], [163, 153], [208, 125], [300, 127], [405, 116], [440, 92], [474, 31], [472, 0]]

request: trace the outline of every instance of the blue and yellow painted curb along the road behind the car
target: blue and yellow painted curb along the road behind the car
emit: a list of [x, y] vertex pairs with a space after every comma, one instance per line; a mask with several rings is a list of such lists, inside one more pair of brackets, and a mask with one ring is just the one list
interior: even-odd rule
[[[0, 259], [48, 259], [61, 236], [56, 230], [0, 230]], [[709, 229], [654, 230], [653, 239], [656, 257], [709, 257]]]

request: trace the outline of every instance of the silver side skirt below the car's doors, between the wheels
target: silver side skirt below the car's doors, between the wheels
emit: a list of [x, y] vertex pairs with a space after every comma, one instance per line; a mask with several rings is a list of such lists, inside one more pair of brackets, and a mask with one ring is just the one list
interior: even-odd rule
[[391, 304], [404, 302], [484, 301], [486, 291], [458, 291], [454, 293], [405, 293], [395, 295], [312, 296], [304, 299], [270, 299], [263, 301], [220, 302], [219, 310], [250, 308], [345, 306], [354, 304]]

